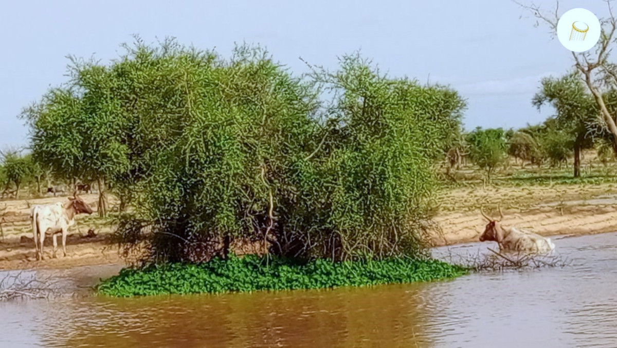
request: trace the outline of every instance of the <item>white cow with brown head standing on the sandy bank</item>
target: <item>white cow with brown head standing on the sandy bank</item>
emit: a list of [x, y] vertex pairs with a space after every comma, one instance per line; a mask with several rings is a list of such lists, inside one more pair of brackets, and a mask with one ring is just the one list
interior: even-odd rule
[[35, 205], [32, 207], [32, 231], [35, 240], [36, 260], [44, 260], [43, 242], [45, 235], [51, 234], [54, 240], [54, 253], [56, 257], [56, 248], [58, 242], [57, 234], [62, 233], [62, 252], [67, 256], [67, 234], [68, 226], [75, 224], [75, 215], [80, 213], [92, 214], [92, 208], [80, 197], [69, 197], [68, 202], [52, 203], [46, 205]]

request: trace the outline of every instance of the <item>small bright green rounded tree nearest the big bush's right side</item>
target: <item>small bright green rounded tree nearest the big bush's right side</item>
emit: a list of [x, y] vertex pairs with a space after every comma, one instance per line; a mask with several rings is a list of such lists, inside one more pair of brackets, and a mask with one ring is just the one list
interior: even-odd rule
[[478, 127], [468, 134], [467, 143], [470, 145], [471, 160], [486, 172], [487, 182], [490, 182], [493, 169], [506, 158], [505, 132], [500, 128]]

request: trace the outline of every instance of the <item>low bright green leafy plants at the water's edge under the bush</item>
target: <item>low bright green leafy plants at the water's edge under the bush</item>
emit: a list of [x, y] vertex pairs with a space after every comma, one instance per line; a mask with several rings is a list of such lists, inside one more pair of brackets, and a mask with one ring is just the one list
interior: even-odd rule
[[99, 294], [128, 297], [159, 294], [319, 289], [341, 286], [408, 283], [455, 278], [460, 266], [439, 260], [391, 258], [379, 261], [314, 260], [300, 263], [278, 257], [246, 255], [205, 263], [170, 263], [125, 268], [99, 284]]

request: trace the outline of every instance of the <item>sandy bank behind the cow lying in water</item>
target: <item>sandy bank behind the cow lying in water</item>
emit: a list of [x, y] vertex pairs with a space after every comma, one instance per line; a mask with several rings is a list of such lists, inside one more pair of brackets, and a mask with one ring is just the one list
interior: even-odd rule
[[437, 198], [435, 245], [477, 241], [486, 221], [480, 208], [502, 224], [541, 236], [596, 234], [617, 231], [617, 185], [556, 185], [552, 187], [478, 187], [450, 189]]

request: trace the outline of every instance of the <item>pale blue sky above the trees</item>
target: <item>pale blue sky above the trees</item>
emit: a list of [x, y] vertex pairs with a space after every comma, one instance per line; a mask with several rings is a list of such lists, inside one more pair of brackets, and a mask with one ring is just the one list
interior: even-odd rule
[[[607, 12], [600, 0], [560, 1], [560, 15], [576, 7]], [[27, 145], [17, 115], [67, 81], [68, 54], [107, 63], [133, 35], [147, 43], [174, 36], [227, 57], [234, 43], [256, 43], [294, 74], [307, 71], [300, 57], [335, 68], [337, 56], [359, 49], [392, 77], [458, 90], [468, 130], [536, 124], [553, 113], [531, 105], [540, 79], [565, 74], [573, 61], [535, 22], [508, 0], [2, 2], [0, 149]]]

